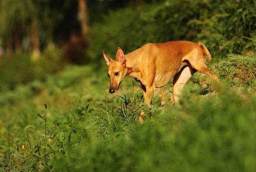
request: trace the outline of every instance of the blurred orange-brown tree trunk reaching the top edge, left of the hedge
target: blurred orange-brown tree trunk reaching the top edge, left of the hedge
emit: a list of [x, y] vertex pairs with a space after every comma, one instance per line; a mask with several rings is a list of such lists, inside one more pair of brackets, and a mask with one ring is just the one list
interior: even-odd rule
[[78, 0], [78, 18], [81, 24], [81, 35], [86, 41], [88, 36], [88, 9], [87, 0]]

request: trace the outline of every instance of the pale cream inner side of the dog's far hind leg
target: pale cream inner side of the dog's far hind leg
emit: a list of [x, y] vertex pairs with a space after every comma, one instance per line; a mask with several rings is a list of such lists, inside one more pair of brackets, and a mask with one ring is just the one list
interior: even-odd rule
[[179, 73], [173, 78], [173, 98], [175, 103], [179, 102], [179, 95], [182, 92], [183, 86], [189, 81], [192, 75], [196, 72], [191, 66], [184, 66]]

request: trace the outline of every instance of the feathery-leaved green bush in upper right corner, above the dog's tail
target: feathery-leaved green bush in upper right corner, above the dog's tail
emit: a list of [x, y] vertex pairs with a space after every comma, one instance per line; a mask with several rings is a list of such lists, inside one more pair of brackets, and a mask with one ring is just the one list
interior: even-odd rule
[[222, 53], [255, 54], [255, 0], [209, 0], [204, 6], [189, 22], [201, 28], [198, 40]]

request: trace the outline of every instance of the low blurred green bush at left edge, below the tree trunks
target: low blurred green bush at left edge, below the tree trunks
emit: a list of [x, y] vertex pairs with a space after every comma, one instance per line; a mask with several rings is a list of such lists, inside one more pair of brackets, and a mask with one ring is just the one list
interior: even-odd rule
[[30, 54], [14, 54], [0, 60], [0, 92], [13, 90], [18, 84], [25, 84], [34, 79], [45, 79], [47, 74], [60, 71], [64, 62], [62, 51], [58, 48], [46, 49], [40, 59], [32, 61]]

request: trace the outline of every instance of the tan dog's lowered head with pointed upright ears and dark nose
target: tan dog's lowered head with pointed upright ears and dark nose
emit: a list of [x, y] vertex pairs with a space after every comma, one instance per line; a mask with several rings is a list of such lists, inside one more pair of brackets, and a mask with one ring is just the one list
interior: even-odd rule
[[109, 93], [115, 93], [122, 79], [127, 74], [126, 59], [120, 47], [117, 48], [115, 60], [111, 59], [104, 51], [103, 56], [108, 65], [108, 77], [110, 78]]

